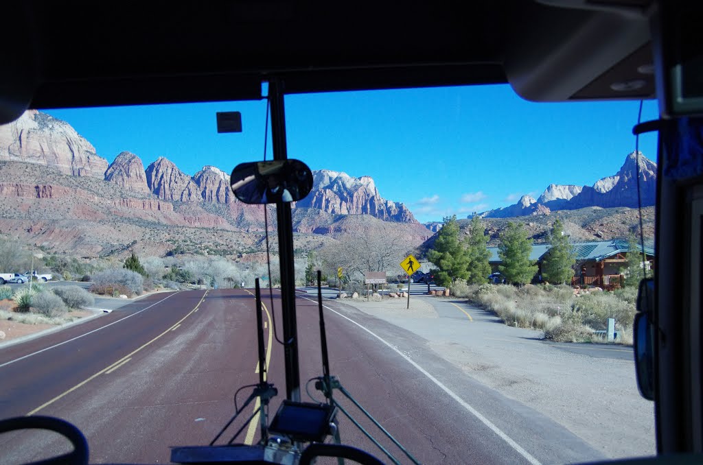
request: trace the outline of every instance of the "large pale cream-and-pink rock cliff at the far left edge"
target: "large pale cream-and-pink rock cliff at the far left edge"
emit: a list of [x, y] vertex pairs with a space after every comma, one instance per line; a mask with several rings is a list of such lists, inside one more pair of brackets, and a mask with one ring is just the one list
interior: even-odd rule
[[50, 166], [72, 176], [103, 178], [108, 161], [70, 124], [49, 114], [27, 110], [0, 126], [0, 160]]

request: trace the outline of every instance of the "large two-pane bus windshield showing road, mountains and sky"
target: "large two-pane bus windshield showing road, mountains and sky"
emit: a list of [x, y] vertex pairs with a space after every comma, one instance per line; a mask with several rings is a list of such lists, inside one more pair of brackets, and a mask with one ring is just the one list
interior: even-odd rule
[[[286, 96], [288, 156], [313, 177], [290, 203], [302, 400], [325, 398], [320, 270], [333, 395], [401, 463], [344, 392], [421, 463], [655, 454], [632, 353], [656, 256], [657, 140], [636, 150], [639, 105], [535, 104], [508, 86]], [[241, 133], [217, 133], [229, 111]], [[257, 279], [274, 417], [290, 350], [276, 204], [240, 202], [230, 179], [273, 159], [270, 126], [266, 100], [0, 126], [1, 418], [66, 419], [95, 463], [209, 444], [259, 380]], [[234, 442], [257, 443], [260, 402], [218, 444], [240, 426]], [[337, 422], [342, 443], [390, 460]], [[4, 463], [65, 450], [0, 436]]]

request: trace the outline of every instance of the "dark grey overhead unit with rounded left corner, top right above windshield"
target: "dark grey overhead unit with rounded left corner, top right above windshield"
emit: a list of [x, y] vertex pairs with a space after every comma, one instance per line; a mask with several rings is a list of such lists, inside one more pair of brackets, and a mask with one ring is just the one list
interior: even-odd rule
[[644, 13], [532, 5], [505, 53], [515, 92], [536, 102], [654, 97], [650, 22]]

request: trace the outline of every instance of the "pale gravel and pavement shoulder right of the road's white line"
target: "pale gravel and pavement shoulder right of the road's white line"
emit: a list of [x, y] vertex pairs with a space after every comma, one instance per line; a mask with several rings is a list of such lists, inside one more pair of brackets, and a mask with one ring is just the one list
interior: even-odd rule
[[[370, 315], [415, 332], [474, 379], [545, 414], [607, 457], [656, 453], [654, 404], [636, 385], [634, 362], [596, 358], [541, 342], [542, 334], [503, 325], [489, 313], [449, 299], [351, 301]], [[622, 350], [629, 350], [622, 348]]]

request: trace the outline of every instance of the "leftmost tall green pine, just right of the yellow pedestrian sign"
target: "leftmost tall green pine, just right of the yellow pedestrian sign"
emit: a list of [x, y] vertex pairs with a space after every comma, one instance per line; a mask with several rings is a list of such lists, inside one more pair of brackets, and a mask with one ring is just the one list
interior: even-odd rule
[[432, 249], [427, 252], [427, 258], [437, 266], [434, 270], [434, 282], [440, 286], [449, 286], [453, 280], [465, 280], [468, 256], [463, 243], [459, 240], [459, 224], [456, 215], [446, 216], [444, 225], [437, 232], [437, 239]]

